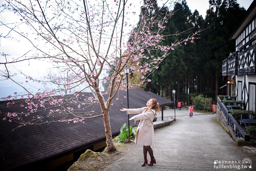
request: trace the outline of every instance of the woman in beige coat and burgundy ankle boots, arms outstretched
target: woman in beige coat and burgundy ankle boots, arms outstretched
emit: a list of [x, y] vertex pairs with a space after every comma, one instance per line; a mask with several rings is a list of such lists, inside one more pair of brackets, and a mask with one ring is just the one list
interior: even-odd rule
[[[120, 111], [126, 111], [127, 114], [136, 114], [131, 117], [129, 120], [140, 120], [140, 123], [137, 127], [136, 135], [135, 135], [135, 143], [137, 145], [143, 145], [143, 155], [144, 155], [144, 162], [141, 166], [145, 166], [147, 162], [147, 152], [150, 155], [151, 161], [148, 166], [153, 166], [156, 164], [156, 159], [153, 155], [153, 150], [150, 145], [153, 145], [154, 141], [154, 128], [153, 128], [153, 119], [157, 115], [155, 110], [160, 111], [159, 104], [157, 103], [156, 99], [150, 99], [147, 102], [147, 107], [139, 108], [139, 109], [120, 109]], [[160, 115], [160, 112], [159, 112]]]

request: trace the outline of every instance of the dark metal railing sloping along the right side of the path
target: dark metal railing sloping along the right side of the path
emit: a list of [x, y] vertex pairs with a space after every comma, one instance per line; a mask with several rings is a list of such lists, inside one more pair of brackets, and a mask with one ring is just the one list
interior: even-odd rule
[[230, 126], [230, 130], [236, 137], [244, 138], [244, 141], [250, 141], [250, 135], [246, 134], [244, 130], [241, 128], [241, 126], [237, 123], [235, 118], [232, 116], [230, 111], [226, 108], [224, 103], [220, 100], [219, 97], [217, 97], [217, 103], [220, 106], [220, 110], [223, 112], [223, 114], [226, 117], [227, 124]]

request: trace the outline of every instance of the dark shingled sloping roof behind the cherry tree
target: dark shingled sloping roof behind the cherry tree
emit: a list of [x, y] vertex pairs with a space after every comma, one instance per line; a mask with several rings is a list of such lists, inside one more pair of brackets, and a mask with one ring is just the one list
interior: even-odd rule
[[[121, 125], [127, 123], [126, 113], [120, 111], [121, 108], [127, 108], [127, 99], [124, 96], [126, 96], [126, 91], [119, 90], [116, 95], [119, 100], [116, 100], [116, 97], [112, 100], [113, 106], [109, 112], [112, 135], [119, 134]], [[146, 106], [146, 102], [150, 98], [157, 99], [160, 106], [172, 104], [172, 101], [152, 92], [138, 88], [129, 89], [130, 108]], [[65, 156], [90, 147], [93, 143], [105, 138], [102, 117], [85, 120], [84, 124], [55, 122], [26, 125], [12, 131], [17, 127], [17, 124], [4, 121], [5, 115], [3, 113], [24, 112], [24, 108], [19, 106], [20, 103], [7, 108], [7, 102], [10, 101], [0, 101], [1, 170], [10, 170], [30, 163], [37, 163], [51, 157]], [[101, 113], [100, 108], [96, 111]], [[36, 112], [42, 116], [46, 113], [47, 111]], [[133, 122], [130, 124], [135, 126]]]

